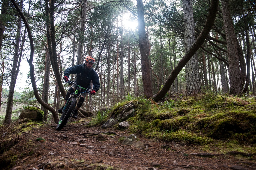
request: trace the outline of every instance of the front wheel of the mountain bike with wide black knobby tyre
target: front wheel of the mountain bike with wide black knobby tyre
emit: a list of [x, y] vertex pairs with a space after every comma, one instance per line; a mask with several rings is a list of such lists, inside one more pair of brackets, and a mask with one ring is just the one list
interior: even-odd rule
[[68, 102], [67, 108], [65, 109], [65, 111], [62, 111], [62, 115], [59, 118], [59, 122], [56, 126], [56, 130], [61, 130], [64, 127], [64, 125], [67, 124], [70, 114], [73, 111], [73, 109], [75, 108], [75, 106], [76, 106], [76, 98], [71, 97]]

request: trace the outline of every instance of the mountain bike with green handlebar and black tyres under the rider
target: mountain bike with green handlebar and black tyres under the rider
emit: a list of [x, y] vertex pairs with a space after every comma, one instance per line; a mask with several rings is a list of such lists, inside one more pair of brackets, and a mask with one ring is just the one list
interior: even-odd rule
[[[67, 100], [67, 103], [62, 110], [61, 117], [59, 118], [59, 122], [56, 126], [56, 130], [61, 130], [67, 124], [67, 122], [69, 121], [69, 118], [72, 117], [73, 115], [72, 111], [75, 109], [77, 99], [80, 97], [80, 95], [82, 93], [90, 93], [89, 89], [85, 89], [79, 86], [78, 84], [73, 83], [73, 81], [68, 80], [67, 83], [69, 83], [69, 85], [73, 84], [77, 86], [77, 88], [74, 93], [70, 94], [70, 97]], [[85, 91], [81, 93], [81, 90], [85, 90]]]

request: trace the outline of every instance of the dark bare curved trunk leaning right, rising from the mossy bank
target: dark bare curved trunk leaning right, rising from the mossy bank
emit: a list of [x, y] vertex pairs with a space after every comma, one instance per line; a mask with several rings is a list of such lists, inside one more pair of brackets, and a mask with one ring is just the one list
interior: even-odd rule
[[206, 39], [207, 35], [209, 34], [209, 32], [214, 24], [214, 20], [215, 20], [217, 11], [218, 11], [218, 6], [219, 6], [219, 0], [211, 1], [211, 6], [209, 9], [209, 13], [208, 13], [203, 30], [201, 31], [200, 35], [197, 37], [196, 41], [193, 43], [191, 48], [186, 52], [186, 54], [181, 58], [181, 60], [177, 64], [177, 66], [171, 72], [171, 74], [165, 81], [163, 88], [156, 95], [153, 96], [154, 101], [157, 102], [165, 96], [165, 94], [168, 92], [169, 88], [171, 87], [172, 83], [174, 82], [175, 78], [180, 73], [182, 68], [187, 64], [189, 59], [195, 54], [195, 52], [203, 44], [204, 40]]

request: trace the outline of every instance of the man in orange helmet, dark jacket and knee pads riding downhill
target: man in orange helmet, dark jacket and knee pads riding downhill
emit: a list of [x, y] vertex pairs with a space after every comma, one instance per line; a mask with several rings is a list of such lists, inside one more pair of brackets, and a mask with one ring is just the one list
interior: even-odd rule
[[[96, 71], [92, 68], [93, 64], [95, 62], [95, 59], [91, 56], [87, 56], [85, 58], [85, 63], [84, 64], [79, 64], [75, 65], [73, 67], [69, 67], [64, 71], [64, 77], [63, 79], [65, 82], [69, 80], [69, 75], [70, 74], [76, 74], [76, 80], [74, 83], [78, 84], [79, 86], [85, 88], [85, 89], [91, 89], [91, 80], [93, 81], [93, 90], [91, 90], [90, 95], [95, 95], [95, 93], [99, 90], [100, 88], [100, 81], [99, 81], [99, 76], [96, 73]], [[62, 110], [64, 106], [67, 103], [67, 100], [69, 99], [69, 96], [71, 93], [73, 93], [76, 89], [75, 85], [72, 85], [65, 97], [64, 105], [58, 110], [59, 113], [62, 113]], [[72, 117], [77, 119], [77, 111], [79, 108], [82, 106], [85, 96], [87, 93], [83, 93], [85, 90], [81, 91], [81, 96], [79, 99], [79, 102], [76, 106], [76, 109], [73, 111]]]

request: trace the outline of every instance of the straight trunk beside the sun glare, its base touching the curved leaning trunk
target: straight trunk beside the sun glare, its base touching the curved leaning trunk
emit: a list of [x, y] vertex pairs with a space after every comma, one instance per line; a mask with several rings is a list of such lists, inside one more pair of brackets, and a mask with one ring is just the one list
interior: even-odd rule
[[145, 32], [144, 7], [142, 0], [136, 1], [138, 10], [139, 51], [141, 53], [141, 73], [143, 91], [146, 98], [150, 98], [153, 96], [153, 88], [151, 83], [150, 65], [148, 59], [149, 51], [147, 46], [147, 36]]

